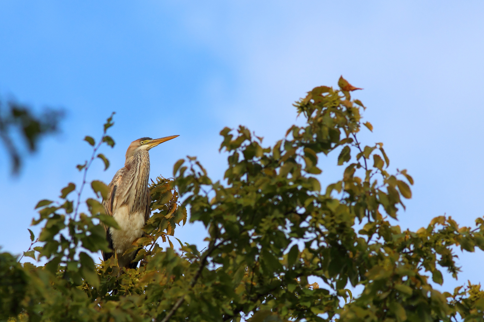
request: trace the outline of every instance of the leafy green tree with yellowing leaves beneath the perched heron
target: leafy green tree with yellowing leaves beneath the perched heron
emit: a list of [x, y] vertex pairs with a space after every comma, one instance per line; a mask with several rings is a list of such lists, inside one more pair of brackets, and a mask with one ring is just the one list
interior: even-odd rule
[[[174, 179], [151, 183], [153, 215], [139, 249], [137, 269], [121, 270], [115, 258], [96, 265], [89, 252], [107, 250], [100, 222], [116, 226], [99, 200], [87, 199], [88, 213], [70, 199], [38, 203], [42, 246], [24, 253], [45, 258], [45, 266], [0, 256], [1, 318], [10, 321], [484, 321], [480, 285], [441, 293], [442, 269], [459, 272], [454, 248], [484, 249], [484, 220], [460, 227], [434, 218], [417, 232], [402, 231], [397, 218], [411, 197], [406, 170], [388, 172], [382, 143], [358, 140], [365, 107], [352, 100], [357, 89], [340, 78], [339, 89], [319, 86], [296, 102], [307, 120], [285, 139], [263, 146], [262, 138], [240, 126], [224, 128], [221, 150], [228, 153], [227, 183], [214, 182], [195, 157], [179, 160]], [[88, 171], [103, 143], [93, 146]], [[337, 153], [340, 181], [321, 190], [318, 158]], [[108, 162], [103, 155], [99, 156]], [[86, 182], [77, 191], [77, 200]], [[106, 196], [106, 185], [91, 182]], [[177, 225], [200, 221], [208, 247], [173, 240]], [[363, 227], [358, 229], [357, 227]], [[163, 249], [158, 240], [168, 241]], [[35, 241], [31, 235], [32, 243]], [[308, 283], [309, 277], [320, 282]], [[13, 282], [15, 280], [15, 283]], [[353, 296], [349, 285], [363, 287]], [[343, 303], [344, 302], [344, 303]]]

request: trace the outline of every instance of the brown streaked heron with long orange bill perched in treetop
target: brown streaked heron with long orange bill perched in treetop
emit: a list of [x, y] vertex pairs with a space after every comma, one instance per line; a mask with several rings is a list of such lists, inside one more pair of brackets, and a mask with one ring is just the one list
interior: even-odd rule
[[112, 216], [119, 226], [104, 226], [106, 240], [113, 252], [103, 252], [106, 261], [113, 255], [118, 259], [118, 266], [136, 268], [133, 262], [136, 252], [124, 255], [133, 242], [143, 236], [143, 227], [150, 218], [151, 197], [148, 187], [150, 177], [150, 149], [160, 143], [175, 139], [172, 135], [160, 139], [148, 137], [134, 140], [126, 151], [124, 167], [119, 169], [108, 185], [109, 192], [103, 200], [107, 215]]

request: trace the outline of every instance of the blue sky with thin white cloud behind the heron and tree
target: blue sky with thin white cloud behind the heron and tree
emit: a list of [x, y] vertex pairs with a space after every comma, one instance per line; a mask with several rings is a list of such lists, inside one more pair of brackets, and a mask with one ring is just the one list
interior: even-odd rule
[[[340, 75], [363, 91], [364, 118], [384, 142], [391, 168], [414, 177], [403, 228], [435, 216], [473, 225], [484, 215], [481, 98], [482, 1], [0, 1], [0, 94], [40, 110], [63, 107], [62, 133], [26, 159], [18, 178], [0, 151], [0, 245], [30, 244], [33, 207], [55, 198], [89, 155], [116, 111], [105, 149], [109, 182], [137, 138], [180, 137], [151, 150], [151, 177], [197, 155], [220, 179], [224, 126], [248, 126], [272, 144], [295, 122], [292, 102]], [[321, 160], [321, 182], [337, 180], [335, 156]], [[37, 232], [36, 227], [32, 228]], [[177, 237], [202, 243], [200, 225]], [[484, 256], [460, 254], [459, 281], [484, 281]]]

